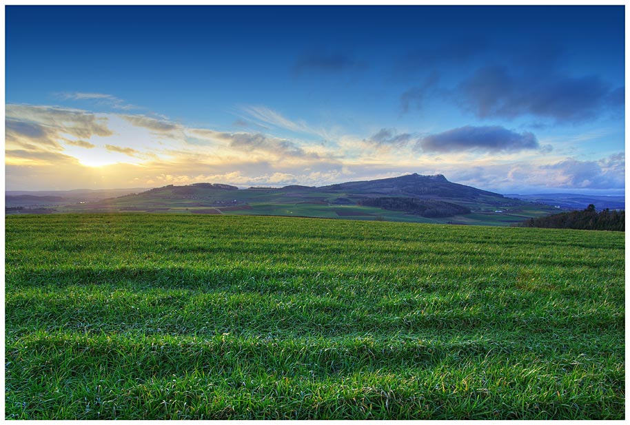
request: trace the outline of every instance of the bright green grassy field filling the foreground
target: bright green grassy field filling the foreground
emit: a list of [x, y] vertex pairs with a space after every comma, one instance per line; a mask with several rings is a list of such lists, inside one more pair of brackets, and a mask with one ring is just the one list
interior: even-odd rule
[[6, 217], [8, 419], [623, 419], [624, 234]]

